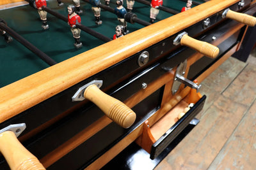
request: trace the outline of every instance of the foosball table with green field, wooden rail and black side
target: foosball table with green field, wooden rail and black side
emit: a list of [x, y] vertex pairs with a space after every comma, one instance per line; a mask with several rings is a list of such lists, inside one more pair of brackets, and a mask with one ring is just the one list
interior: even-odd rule
[[198, 123], [204, 78], [256, 40], [253, 0], [198, 0], [182, 12], [186, 1], [164, 1], [154, 22], [152, 2], [138, 0], [116, 39], [118, 3], [97, 4], [99, 24], [83, 0], [76, 49], [72, 1], [62, 2], [42, 7], [47, 30], [35, 0], [2, 3], [0, 30], [13, 41], [0, 42], [0, 169], [101, 169], [131, 144], [157, 159]]

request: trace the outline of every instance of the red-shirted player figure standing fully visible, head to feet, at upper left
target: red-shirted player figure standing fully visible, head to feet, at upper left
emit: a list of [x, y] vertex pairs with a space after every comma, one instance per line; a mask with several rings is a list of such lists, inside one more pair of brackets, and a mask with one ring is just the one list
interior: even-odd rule
[[76, 46], [76, 48], [81, 48], [83, 46], [80, 42], [81, 29], [76, 27], [76, 24], [81, 24], [81, 18], [79, 17], [79, 15], [76, 14], [75, 10], [76, 7], [74, 6], [74, 4], [68, 5], [68, 25], [70, 25], [71, 32], [75, 39], [74, 46]]

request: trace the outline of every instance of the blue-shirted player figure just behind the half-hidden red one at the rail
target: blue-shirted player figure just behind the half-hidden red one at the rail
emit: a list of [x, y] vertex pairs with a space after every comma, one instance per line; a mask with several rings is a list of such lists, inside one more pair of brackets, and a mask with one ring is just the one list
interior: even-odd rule
[[116, 5], [117, 6], [115, 8], [115, 14], [117, 16], [117, 20], [120, 22], [121, 25], [124, 26], [124, 34], [128, 34], [129, 31], [127, 31], [127, 22], [124, 19], [127, 11], [123, 6], [123, 0], [117, 0]]

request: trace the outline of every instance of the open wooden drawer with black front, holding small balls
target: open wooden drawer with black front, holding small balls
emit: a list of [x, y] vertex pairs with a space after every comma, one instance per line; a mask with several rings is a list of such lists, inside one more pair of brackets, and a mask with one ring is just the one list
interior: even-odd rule
[[[156, 124], [150, 127], [148, 120], [144, 122], [143, 133], [136, 143], [150, 153], [150, 159], [155, 159], [172, 141], [185, 129], [204, 107], [206, 96], [202, 96], [196, 89], [182, 99], [172, 110], [168, 111]], [[189, 104], [193, 103], [188, 111]], [[185, 110], [185, 111], [184, 111]], [[181, 117], [180, 113], [183, 115]]]

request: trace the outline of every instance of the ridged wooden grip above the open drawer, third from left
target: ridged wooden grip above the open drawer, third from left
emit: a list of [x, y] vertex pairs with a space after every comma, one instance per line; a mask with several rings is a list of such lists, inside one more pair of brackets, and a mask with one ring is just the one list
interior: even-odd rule
[[210, 43], [199, 41], [197, 39], [189, 37], [187, 34], [184, 34], [180, 39], [180, 45], [186, 45], [194, 50], [204, 54], [207, 57], [215, 58], [218, 56], [220, 50], [217, 46], [211, 45]]

